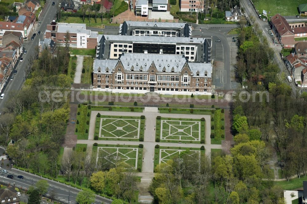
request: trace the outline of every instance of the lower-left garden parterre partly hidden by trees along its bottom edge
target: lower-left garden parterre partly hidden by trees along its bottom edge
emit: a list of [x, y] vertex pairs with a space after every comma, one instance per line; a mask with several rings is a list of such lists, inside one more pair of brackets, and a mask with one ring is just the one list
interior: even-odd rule
[[[111, 163], [120, 162], [126, 168], [132, 168], [135, 171], [142, 171], [143, 148], [135, 145], [107, 145], [98, 144], [93, 146], [92, 152], [96, 155], [97, 151], [103, 151], [105, 158]], [[98, 152], [98, 153], [99, 153]], [[119, 161], [116, 161], [116, 160]]]

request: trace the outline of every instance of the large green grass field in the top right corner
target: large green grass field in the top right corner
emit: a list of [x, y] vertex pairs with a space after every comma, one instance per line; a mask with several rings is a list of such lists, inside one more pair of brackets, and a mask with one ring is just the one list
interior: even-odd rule
[[294, 16], [299, 14], [298, 5], [306, 3], [306, 0], [253, 0], [253, 3], [259, 14], [262, 14], [262, 10], [266, 10], [268, 16], [274, 16], [276, 13], [282, 16]]

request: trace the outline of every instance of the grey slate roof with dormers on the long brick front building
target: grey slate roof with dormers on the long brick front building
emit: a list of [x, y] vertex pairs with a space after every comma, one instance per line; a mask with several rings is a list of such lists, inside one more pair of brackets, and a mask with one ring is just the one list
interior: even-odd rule
[[122, 62], [122, 66], [125, 70], [131, 70], [134, 67], [135, 71], [139, 71], [142, 67], [143, 71], [147, 71], [151, 63], [153, 62], [159, 72], [162, 72], [165, 68], [166, 73], [181, 72], [185, 63], [188, 64], [190, 70], [196, 75], [199, 71], [200, 76], [204, 77], [205, 71], [207, 76], [211, 77], [212, 64], [202, 62], [188, 62], [184, 55], [159, 55], [159, 54], [141, 54], [141, 53], [123, 53], [119, 59], [95, 59], [94, 60], [94, 73], [97, 73], [98, 68], [101, 68], [101, 73], [106, 73], [106, 68], [109, 68], [109, 72], [115, 68], [117, 63]]

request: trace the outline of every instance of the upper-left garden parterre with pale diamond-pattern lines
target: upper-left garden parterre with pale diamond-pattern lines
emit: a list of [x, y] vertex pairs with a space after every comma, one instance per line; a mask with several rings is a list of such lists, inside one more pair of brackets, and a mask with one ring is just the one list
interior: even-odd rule
[[145, 119], [140, 117], [101, 115], [96, 118], [94, 139], [138, 141], [144, 138], [144, 128]]

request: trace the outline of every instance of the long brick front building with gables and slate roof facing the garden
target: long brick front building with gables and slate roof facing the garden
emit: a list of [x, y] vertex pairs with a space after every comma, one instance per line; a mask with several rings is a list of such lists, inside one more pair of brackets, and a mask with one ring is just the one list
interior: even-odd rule
[[189, 62], [184, 55], [122, 53], [119, 59], [95, 59], [93, 89], [210, 93], [212, 64]]

